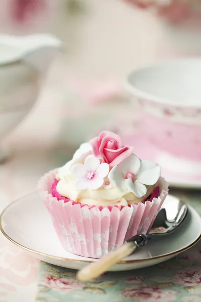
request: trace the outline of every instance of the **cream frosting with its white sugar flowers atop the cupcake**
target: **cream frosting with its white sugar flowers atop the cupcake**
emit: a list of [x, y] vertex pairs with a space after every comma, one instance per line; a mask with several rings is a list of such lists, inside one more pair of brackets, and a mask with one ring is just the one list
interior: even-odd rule
[[[109, 142], [112, 148], [118, 139]], [[95, 153], [97, 149], [95, 145]], [[112, 151], [107, 155], [109, 158], [111, 155], [114, 157]], [[72, 160], [59, 169], [56, 189], [61, 196], [89, 206], [106, 207], [139, 203], [152, 193], [160, 177], [157, 164], [141, 161], [130, 154], [118, 165], [110, 167], [104, 159], [95, 157], [93, 152], [90, 144], [82, 144]], [[105, 152], [108, 152], [108, 148], [105, 148]]]

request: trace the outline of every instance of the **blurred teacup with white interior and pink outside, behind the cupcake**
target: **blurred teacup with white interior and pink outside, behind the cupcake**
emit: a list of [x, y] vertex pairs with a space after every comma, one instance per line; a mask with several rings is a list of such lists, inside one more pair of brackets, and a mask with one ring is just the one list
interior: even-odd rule
[[201, 58], [132, 71], [127, 88], [138, 103], [138, 131], [163, 152], [201, 161]]

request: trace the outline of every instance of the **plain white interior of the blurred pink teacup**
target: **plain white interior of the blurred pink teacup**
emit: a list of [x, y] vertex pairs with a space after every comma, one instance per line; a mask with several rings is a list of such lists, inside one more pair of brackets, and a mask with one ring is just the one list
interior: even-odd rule
[[163, 105], [201, 108], [200, 67], [198, 57], [156, 62], [131, 72], [128, 88], [140, 98]]

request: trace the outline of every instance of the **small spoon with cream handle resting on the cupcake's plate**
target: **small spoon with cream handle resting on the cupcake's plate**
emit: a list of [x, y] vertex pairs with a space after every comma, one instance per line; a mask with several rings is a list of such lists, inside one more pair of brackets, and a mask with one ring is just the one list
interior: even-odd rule
[[[85, 266], [77, 273], [77, 279], [80, 281], [91, 281], [108, 271], [118, 261], [134, 253], [136, 249], [145, 246], [147, 240], [172, 233], [184, 220], [187, 211], [188, 207], [183, 201], [168, 195], [167, 201], [164, 202], [156, 216], [151, 233], [136, 235], [127, 240], [120, 248]], [[161, 229], [160, 233], [158, 232], [159, 228]]]

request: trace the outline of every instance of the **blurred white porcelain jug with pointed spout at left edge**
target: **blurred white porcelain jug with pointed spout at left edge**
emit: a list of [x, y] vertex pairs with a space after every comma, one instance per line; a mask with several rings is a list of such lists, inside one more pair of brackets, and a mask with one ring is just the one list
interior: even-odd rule
[[50, 34], [0, 35], [0, 143], [33, 107], [42, 77], [61, 46]]

